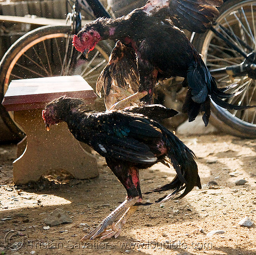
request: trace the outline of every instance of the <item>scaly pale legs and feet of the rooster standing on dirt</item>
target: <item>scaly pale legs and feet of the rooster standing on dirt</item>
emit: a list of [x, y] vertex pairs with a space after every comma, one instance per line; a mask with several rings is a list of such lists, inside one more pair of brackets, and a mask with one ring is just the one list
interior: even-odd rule
[[[117, 238], [122, 230], [122, 227], [126, 223], [127, 219], [136, 211], [137, 206], [133, 206], [139, 197], [125, 199], [108, 217], [106, 217], [94, 230], [92, 230], [88, 235], [84, 236], [81, 241], [95, 238], [101, 236], [100, 239], [108, 239], [111, 237]], [[114, 222], [117, 220], [115, 224]], [[112, 229], [106, 230], [109, 226]]]

